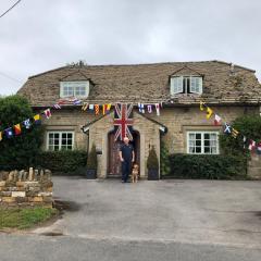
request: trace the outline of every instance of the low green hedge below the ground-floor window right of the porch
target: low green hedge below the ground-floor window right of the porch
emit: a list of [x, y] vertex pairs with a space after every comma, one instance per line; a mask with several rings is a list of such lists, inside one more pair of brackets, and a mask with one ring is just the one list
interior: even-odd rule
[[246, 179], [247, 159], [227, 154], [171, 154], [170, 173], [162, 177]]

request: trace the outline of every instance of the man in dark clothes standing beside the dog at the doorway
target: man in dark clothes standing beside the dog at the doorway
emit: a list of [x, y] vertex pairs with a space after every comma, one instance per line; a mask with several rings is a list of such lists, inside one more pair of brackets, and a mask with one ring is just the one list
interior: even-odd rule
[[124, 144], [120, 149], [120, 159], [122, 162], [122, 182], [126, 183], [132, 171], [132, 162], [135, 160], [135, 153], [129, 139], [124, 137], [123, 141]]

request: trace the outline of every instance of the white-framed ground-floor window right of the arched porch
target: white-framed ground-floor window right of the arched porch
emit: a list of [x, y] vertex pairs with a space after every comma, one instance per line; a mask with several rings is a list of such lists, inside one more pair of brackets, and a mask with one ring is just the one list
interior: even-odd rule
[[187, 132], [187, 153], [219, 154], [219, 132]]

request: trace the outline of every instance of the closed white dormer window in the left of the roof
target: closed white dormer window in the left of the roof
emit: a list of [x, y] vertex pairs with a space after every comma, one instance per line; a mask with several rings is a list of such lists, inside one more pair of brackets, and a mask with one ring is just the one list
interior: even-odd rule
[[89, 96], [89, 80], [80, 82], [61, 82], [60, 97], [88, 97]]

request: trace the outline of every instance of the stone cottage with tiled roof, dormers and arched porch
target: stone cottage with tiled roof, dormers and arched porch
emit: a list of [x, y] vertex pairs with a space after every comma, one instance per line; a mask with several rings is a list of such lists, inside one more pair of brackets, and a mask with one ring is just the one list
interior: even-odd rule
[[[261, 87], [254, 71], [222, 61], [174, 62], [134, 65], [67, 65], [30, 76], [18, 95], [34, 110], [45, 110], [61, 99], [77, 97], [89, 104], [112, 103], [110, 113], [95, 114], [82, 105], [64, 103], [45, 120], [45, 150], [84, 149], [95, 142], [98, 176], [120, 175], [114, 141], [114, 104], [128, 103], [133, 110], [133, 144], [140, 176], [147, 176], [146, 161], [153, 146], [160, 158], [162, 140], [171, 153], [221, 151], [222, 126], [200, 112], [203, 100], [226, 122], [247, 113], [260, 113]], [[137, 104], [145, 104], [140, 113]], [[160, 103], [160, 115], [154, 104]], [[147, 104], [152, 104], [148, 112]]]

